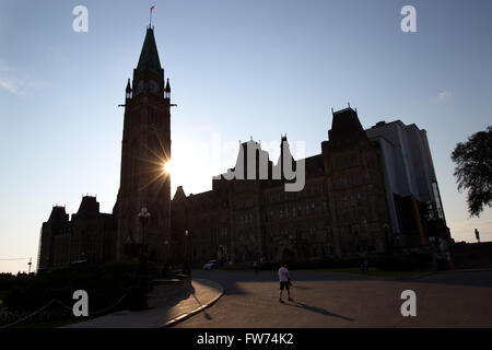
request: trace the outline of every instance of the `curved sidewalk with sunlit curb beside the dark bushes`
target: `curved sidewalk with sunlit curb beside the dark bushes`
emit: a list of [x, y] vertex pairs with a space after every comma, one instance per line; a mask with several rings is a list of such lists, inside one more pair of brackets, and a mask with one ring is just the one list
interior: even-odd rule
[[191, 279], [191, 289], [163, 304], [141, 311], [120, 311], [67, 326], [67, 328], [162, 328], [199, 313], [222, 296], [222, 285], [204, 279]]

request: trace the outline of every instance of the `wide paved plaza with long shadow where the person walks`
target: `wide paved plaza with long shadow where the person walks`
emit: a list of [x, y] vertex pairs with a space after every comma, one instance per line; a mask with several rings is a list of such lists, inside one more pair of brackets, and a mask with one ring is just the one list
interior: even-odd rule
[[[194, 271], [223, 285], [211, 307], [175, 327], [491, 327], [492, 271], [433, 273], [414, 280], [291, 271], [293, 302], [279, 303], [276, 271]], [[417, 293], [402, 317], [401, 292]], [[284, 298], [285, 300], [286, 298]]]

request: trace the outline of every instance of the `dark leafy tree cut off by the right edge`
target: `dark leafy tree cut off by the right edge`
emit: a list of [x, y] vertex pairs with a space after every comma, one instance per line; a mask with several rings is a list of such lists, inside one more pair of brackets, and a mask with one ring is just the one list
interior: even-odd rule
[[492, 126], [459, 142], [452, 153], [458, 190], [467, 190], [468, 212], [480, 217], [483, 207], [492, 207]]

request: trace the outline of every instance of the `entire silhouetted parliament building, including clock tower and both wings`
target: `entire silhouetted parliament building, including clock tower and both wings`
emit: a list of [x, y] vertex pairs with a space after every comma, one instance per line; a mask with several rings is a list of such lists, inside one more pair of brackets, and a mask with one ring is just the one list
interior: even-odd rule
[[[169, 81], [149, 27], [126, 86], [113, 212], [101, 213], [90, 196], [71, 218], [54, 207], [42, 228], [38, 269], [129, 259], [139, 252], [156, 264], [313, 260], [417, 247], [429, 236], [449, 235], [425, 131], [414, 125], [398, 120], [364, 130], [356, 110], [333, 112], [319, 154], [293, 160], [284, 136], [273, 164], [251, 140], [241, 144], [227, 173], [247, 175], [255, 162], [253, 179], [223, 174], [212, 190], [187, 196], [179, 186], [171, 200], [164, 172], [171, 160], [171, 106]], [[283, 173], [284, 160], [294, 168], [304, 163], [303, 190], [285, 191], [292, 180]], [[260, 178], [263, 162], [267, 176]], [[142, 208], [150, 212], [144, 220], [138, 215]]]

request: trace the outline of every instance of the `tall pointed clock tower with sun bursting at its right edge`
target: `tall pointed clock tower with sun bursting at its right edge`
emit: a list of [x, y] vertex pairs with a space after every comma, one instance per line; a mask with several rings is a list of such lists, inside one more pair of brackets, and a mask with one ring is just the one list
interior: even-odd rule
[[[121, 175], [115, 213], [117, 259], [144, 249], [166, 260], [171, 232], [171, 86], [164, 81], [154, 30], [148, 27], [133, 81], [128, 80], [121, 144]], [[142, 208], [147, 214], [140, 214]], [[143, 212], [145, 212], [145, 209]], [[149, 215], [150, 214], [150, 215]]]

